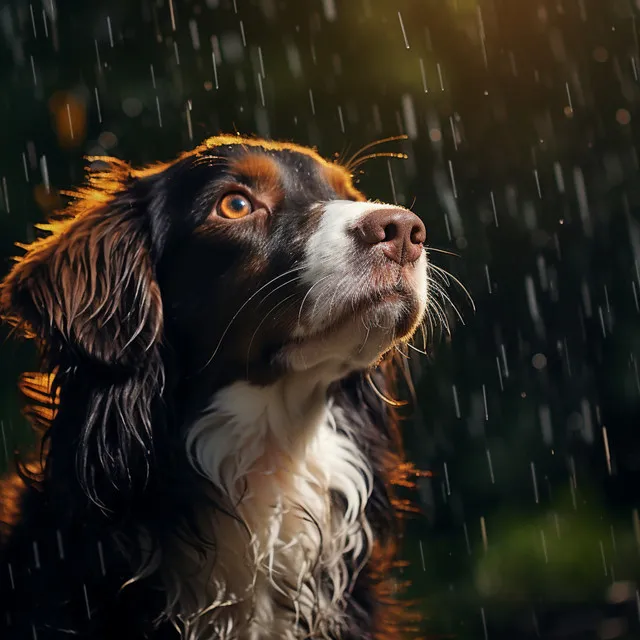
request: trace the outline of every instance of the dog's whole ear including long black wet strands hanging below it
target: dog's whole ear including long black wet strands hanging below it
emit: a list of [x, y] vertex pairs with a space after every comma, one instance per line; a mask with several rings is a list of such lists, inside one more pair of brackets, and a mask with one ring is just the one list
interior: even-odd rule
[[56, 486], [77, 490], [79, 480], [101, 508], [140, 495], [156, 455], [164, 369], [152, 184], [110, 161], [0, 284], [2, 314], [38, 340], [49, 386], [61, 392], [56, 411], [67, 413], [44, 416], [55, 425], [46, 459], [56, 461]]

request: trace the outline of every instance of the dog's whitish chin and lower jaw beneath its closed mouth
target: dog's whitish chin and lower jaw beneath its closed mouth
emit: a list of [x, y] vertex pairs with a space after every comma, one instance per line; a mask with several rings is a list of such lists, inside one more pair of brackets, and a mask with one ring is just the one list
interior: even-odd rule
[[318, 371], [337, 379], [376, 365], [395, 345], [411, 338], [423, 315], [419, 297], [390, 294], [297, 336], [284, 346], [279, 359], [290, 372]]

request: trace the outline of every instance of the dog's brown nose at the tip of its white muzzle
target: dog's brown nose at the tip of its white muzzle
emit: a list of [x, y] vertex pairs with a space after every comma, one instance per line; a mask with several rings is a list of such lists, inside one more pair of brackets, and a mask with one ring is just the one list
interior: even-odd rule
[[427, 230], [415, 213], [406, 209], [375, 209], [356, 223], [356, 234], [368, 245], [380, 245], [389, 260], [405, 265], [422, 253]]

